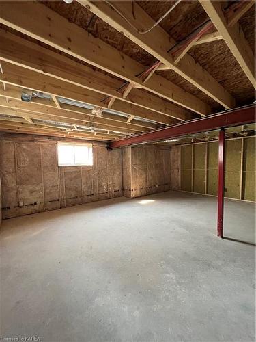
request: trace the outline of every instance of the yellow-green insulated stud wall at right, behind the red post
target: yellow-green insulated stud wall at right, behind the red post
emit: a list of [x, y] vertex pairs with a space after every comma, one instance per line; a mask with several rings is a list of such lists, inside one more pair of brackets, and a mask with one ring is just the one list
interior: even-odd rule
[[[183, 145], [181, 153], [181, 189], [216, 196], [218, 142]], [[255, 201], [255, 137], [226, 141], [225, 197]]]

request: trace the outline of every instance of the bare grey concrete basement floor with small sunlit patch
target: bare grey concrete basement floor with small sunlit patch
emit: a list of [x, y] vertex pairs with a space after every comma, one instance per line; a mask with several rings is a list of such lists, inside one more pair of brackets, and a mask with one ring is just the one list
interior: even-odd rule
[[[255, 205], [226, 201], [253, 241]], [[255, 248], [216, 237], [216, 198], [165, 192], [5, 220], [1, 334], [41, 341], [255, 341]]]

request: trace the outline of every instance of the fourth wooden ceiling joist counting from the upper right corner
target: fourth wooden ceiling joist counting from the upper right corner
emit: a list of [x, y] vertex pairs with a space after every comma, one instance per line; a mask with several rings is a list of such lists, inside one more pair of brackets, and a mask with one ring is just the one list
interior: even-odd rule
[[116, 90], [122, 85], [118, 79], [40, 47], [38, 44], [29, 42], [3, 29], [0, 29], [0, 40], [0, 60], [100, 92], [102, 98], [112, 96], [178, 120], [192, 118], [188, 111], [182, 107], [141, 89], [133, 88], [124, 98]]

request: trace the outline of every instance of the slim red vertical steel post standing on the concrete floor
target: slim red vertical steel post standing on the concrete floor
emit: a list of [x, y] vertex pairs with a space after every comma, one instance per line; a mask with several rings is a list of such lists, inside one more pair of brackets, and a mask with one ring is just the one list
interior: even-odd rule
[[218, 135], [218, 237], [223, 237], [224, 186], [225, 186], [225, 130]]

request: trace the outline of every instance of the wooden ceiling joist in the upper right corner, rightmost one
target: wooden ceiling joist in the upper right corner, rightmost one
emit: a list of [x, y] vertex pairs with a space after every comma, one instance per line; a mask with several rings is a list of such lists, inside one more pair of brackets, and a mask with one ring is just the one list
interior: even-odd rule
[[240, 64], [242, 70], [255, 87], [255, 57], [248, 42], [244, 38], [241, 27], [236, 23], [233, 27], [227, 26], [225, 14], [223, 12], [223, 1], [199, 0], [203, 9], [208, 14], [212, 23], [223, 36], [227, 46], [233, 56]]

